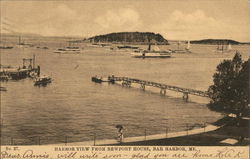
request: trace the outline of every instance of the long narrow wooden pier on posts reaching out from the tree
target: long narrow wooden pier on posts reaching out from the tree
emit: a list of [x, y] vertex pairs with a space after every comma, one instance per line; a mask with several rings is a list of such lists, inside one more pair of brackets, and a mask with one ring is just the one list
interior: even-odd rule
[[118, 81], [122, 82], [122, 86], [126, 86], [126, 87], [131, 87], [132, 83], [136, 83], [136, 84], [141, 85], [142, 90], [145, 90], [146, 86], [160, 88], [160, 94], [163, 94], [163, 95], [166, 95], [166, 90], [181, 92], [181, 93], [183, 93], [183, 99], [186, 101], [189, 98], [189, 94], [209, 98], [209, 94], [207, 91], [199, 91], [199, 90], [195, 90], [195, 89], [181, 88], [181, 87], [177, 87], [177, 86], [156, 83], [156, 82], [151, 82], [151, 81], [145, 81], [145, 80], [140, 80], [140, 79], [135, 79], [135, 78], [109, 76], [108, 80], [111, 83], [115, 83]]

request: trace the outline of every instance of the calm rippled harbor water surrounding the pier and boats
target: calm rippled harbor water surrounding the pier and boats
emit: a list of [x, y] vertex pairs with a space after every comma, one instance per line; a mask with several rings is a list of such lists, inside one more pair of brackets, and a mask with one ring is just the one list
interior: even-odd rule
[[[206, 108], [205, 98], [191, 97], [184, 102], [181, 94], [146, 88], [124, 88], [118, 84], [96, 84], [91, 76], [128, 76], [186, 88], [206, 90], [212, 83], [216, 65], [233, 54], [213, 52], [215, 46], [193, 45], [192, 54], [175, 54], [169, 59], [136, 59], [129, 52], [109, 48], [85, 49], [79, 55], [59, 55], [53, 49], [61, 43], [49, 43], [49, 50], [15, 48], [1, 50], [1, 64], [19, 66], [22, 58], [36, 55], [42, 74], [51, 75], [47, 87], [35, 87], [31, 79], [1, 83], [3, 119], [2, 144], [41, 144], [109, 139], [117, 136], [116, 124], [125, 125], [126, 136], [164, 133], [186, 129], [204, 122], [214, 122], [221, 114]], [[175, 48], [176, 46], [167, 46]], [[243, 58], [250, 47], [234, 46]]]

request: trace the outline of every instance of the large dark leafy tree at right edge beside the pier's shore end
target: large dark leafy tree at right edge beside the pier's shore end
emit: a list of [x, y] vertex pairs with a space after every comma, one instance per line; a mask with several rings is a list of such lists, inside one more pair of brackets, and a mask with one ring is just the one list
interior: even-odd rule
[[236, 52], [232, 60], [224, 60], [217, 66], [214, 84], [208, 89], [211, 110], [248, 116], [249, 59], [243, 61]]

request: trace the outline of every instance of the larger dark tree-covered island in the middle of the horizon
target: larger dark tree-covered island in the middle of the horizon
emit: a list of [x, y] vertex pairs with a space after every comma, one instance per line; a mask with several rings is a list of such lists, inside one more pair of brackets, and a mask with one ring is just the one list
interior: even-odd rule
[[156, 44], [167, 45], [168, 41], [160, 34], [153, 32], [119, 32], [105, 35], [98, 35], [88, 38], [90, 42], [110, 42], [110, 43], [133, 43], [148, 44], [149, 41]]

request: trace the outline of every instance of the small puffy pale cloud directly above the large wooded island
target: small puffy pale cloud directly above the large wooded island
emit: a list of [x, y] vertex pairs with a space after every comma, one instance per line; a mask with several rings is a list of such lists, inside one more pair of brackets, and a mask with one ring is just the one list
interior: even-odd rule
[[140, 15], [131, 8], [109, 10], [94, 22], [104, 32], [135, 31], [141, 26]]

